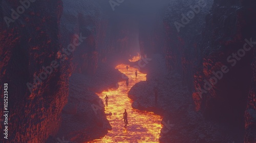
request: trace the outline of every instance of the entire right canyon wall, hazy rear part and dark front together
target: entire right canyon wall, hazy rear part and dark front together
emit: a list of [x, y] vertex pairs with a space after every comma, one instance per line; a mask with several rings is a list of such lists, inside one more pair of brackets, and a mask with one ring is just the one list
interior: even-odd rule
[[206, 119], [255, 142], [255, 2], [214, 1], [204, 14], [207, 5], [188, 23], [178, 21], [180, 32], [168, 20], [174, 12], [164, 19], [167, 67], [182, 74]]

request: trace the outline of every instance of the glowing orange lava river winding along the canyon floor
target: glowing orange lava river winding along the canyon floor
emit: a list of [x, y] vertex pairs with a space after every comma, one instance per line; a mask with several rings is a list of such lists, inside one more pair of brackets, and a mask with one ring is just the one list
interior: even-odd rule
[[[146, 74], [142, 74], [139, 71], [138, 77], [136, 78], [136, 69], [133, 67], [129, 67], [126, 70], [126, 65], [120, 64], [116, 68], [129, 77], [129, 89], [135, 83], [146, 80]], [[95, 139], [92, 142], [159, 142], [158, 138], [162, 128], [162, 117], [152, 112], [133, 109], [131, 106], [132, 101], [127, 97], [129, 90], [126, 88], [125, 81], [119, 82], [118, 84], [118, 89], [110, 89], [98, 93], [98, 96], [102, 100], [106, 94], [109, 97], [109, 106], [105, 107], [105, 113], [112, 113], [111, 116], [108, 116], [112, 130], [101, 139]], [[124, 128], [122, 119], [124, 109], [128, 113], [129, 122], [126, 128]]]

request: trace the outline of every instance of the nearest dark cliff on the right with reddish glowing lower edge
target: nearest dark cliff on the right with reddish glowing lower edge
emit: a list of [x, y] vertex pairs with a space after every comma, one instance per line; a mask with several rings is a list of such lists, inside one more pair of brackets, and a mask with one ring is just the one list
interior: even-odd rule
[[[255, 109], [251, 108], [255, 98], [253, 88], [250, 89], [254, 78], [254, 64], [251, 63], [255, 55], [250, 41], [256, 34], [252, 18], [255, 6], [251, 1], [215, 1], [206, 16], [201, 40], [201, 56], [197, 62], [202, 64], [194, 70], [196, 109], [202, 110], [207, 118], [236, 127], [233, 131], [244, 131], [245, 124], [244, 142], [255, 142], [251, 137], [255, 131], [249, 127], [255, 124], [252, 117]], [[227, 70], [223, 71], [223, 67]], [[210, 83], [208, 89], [207, 81]]]

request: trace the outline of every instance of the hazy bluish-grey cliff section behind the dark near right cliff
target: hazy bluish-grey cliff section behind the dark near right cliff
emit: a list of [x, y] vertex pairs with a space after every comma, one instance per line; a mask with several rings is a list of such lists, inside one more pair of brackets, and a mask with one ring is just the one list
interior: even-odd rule
[[[166, 42], [164, 53], [168, 70], [178, 70], [183, 83], [193, 90], [194, 61], [198, 58], [205, 16], [213, 1], [172, 1], [163, 19]], [[194, 16], [193, 13], [194, 12]], [[191, 17], [190, 17], [191, 16]], [[190, 17], [190, 18], [188, 18]]]

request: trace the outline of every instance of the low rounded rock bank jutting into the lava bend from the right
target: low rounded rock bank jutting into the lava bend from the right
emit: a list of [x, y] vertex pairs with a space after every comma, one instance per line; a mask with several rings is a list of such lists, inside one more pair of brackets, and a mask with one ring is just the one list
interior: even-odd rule
[[130, 89], [128, 97], [134, 101], [132, 104], [133, 108], [153, 112], [155, 111], [158, 114], [162, 114], [161, 112], [165, 110], [168, 102], [158, 102], [156, 105], [154, 88], [158, 88], [159, 94], [168, 94], [169, 92], [167, 90], [168, 88], [165, 87], [167, 85], [164, 84], [167, 83], [168, 79], [165, 79], [165, 82], [162, 81], [163, 78], [166, 78], [167, 76], [167, 70], [164, 66], [165, 60], [160, 54], [152, 55], [150, 59], [151, 61], [149, 61], [145, 67], [141, 68], [147, 71], [147, 80], [136, 83]]

